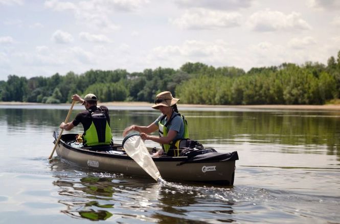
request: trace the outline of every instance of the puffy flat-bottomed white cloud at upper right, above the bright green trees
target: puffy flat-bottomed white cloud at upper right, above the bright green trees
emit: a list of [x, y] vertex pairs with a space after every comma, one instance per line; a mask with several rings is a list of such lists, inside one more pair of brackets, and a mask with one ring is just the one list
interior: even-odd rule
[[311, 29], [311, 26], [301, 18], [300, 13], [284, 14], [279, 11], [270, 11], [269, 9], [252, 14], [248, 24], [253, 30], [259, 32]]

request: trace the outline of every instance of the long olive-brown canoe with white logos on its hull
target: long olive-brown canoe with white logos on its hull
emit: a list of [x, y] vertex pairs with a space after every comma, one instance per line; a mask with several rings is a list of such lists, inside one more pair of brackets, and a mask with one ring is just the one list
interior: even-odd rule
[[[75, 147], [77, 134], [61, 136], [56, 153], [60, 160], [75, 166], [99, 171], [124, 173], [131, 176], [150, 176], [124, 151], [122, 145]], [[57, 139], [58, 134], [54, 133]], [[149, 152], [152, 148], [148, 148]], [[202, 152], [187, 154], [180, 157], [153, 157], [156, 167], [166, 181], [205, 182], [218, 185], [234, 184], [235, 161], [237, 152], [218, 153], [211, 148]]]

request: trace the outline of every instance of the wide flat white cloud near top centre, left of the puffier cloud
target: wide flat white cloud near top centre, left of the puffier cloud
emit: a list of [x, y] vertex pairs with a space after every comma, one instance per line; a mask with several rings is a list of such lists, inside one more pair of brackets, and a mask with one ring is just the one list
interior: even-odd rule
[[242, 16], [240, 13], [226, 13], [216, 10], [195, 8], [186, 10], [179, 18], [170, 22], [182, 29], [218, 29], [240, 26]]

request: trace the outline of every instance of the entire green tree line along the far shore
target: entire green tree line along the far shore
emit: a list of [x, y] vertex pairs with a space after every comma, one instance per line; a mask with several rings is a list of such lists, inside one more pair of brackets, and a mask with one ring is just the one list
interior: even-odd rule
[[164, 90], [187, 104], [325, 104], [339, 97], [340, 51], [327, 65], [283, 63], [247, 72], [188, 62], [179, 69], [158, 67], [132, 73], [124, 69], [70, 71], [30, 79], [11, 74], [7, 81], [0, 81], [0, 101], [59, 104], [71, 102], [76, 93], [94, 93], [101, 102], [152, 102]]

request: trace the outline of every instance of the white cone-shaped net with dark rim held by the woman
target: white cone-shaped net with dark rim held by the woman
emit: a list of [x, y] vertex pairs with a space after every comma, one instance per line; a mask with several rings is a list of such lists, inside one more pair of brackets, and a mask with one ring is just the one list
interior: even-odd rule
[[127, 155], [137, 162], [155, 181], [161, 178], [160, 171], [158, 171], [140, 135], [126, 136], [123, 140], [123, 148]]

